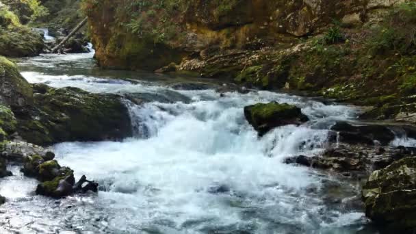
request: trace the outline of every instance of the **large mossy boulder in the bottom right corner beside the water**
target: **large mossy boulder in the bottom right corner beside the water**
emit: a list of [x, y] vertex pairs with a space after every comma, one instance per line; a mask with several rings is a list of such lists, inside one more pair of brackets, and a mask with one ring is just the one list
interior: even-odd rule
[[395, 161], [369, 177], [362, 190], [365, 214], [387, 229], [416, 231], [416, 158]]

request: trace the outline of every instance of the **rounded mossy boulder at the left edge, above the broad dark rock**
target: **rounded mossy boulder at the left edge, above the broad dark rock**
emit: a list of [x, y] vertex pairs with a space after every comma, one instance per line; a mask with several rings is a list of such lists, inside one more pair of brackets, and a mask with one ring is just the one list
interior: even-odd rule
[[30, 84], [18, 72], [16, 65], [0, 56], [0, 105], [21, 107], [32, 102], [32, 95]]

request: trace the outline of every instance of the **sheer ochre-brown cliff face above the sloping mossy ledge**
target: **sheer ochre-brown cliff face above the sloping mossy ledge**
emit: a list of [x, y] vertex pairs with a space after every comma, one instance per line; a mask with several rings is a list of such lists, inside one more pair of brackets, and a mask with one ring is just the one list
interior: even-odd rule
[[369, 12], [406, 0], [87, 0], [99, 64], [155, 70], [207, 48], [274, 46], [315, 34], [333, 21], [366, 21]]

